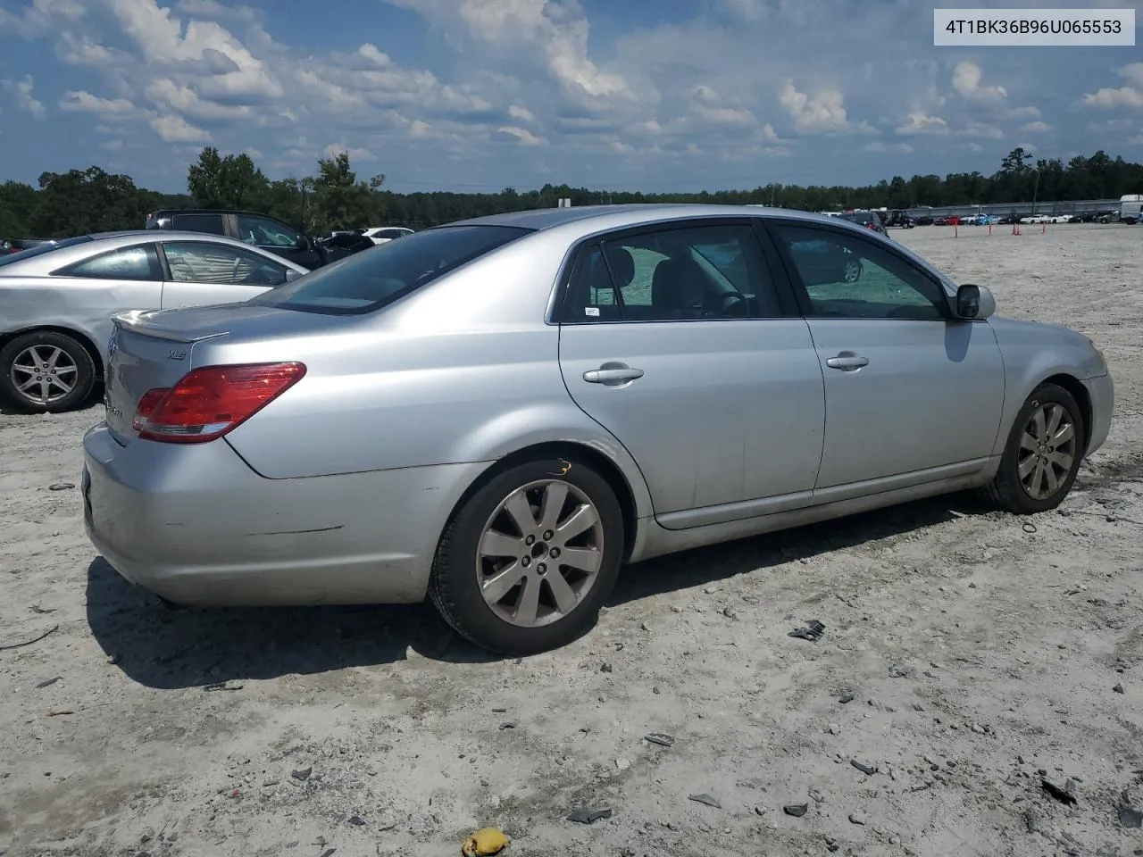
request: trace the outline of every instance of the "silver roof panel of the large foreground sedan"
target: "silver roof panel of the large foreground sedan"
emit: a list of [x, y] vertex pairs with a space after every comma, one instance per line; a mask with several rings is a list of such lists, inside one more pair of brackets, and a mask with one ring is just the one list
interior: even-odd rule
[[[825, 215], [810, 211], [796, 211], [788, 208], [764, 208], [757, 206], [721, 206], [701, 202], [678, 203], [639, 203], [631, 202], [621, 206], [581, 206], [578, 208], [537, 208], [527, 211], [509, 211], [506, 214], [470, 217], [448, 224], [482, 225], [482, 226], [519, 226], [530, 230], [549, 230], [569, 224], [580, 224], [589, 234], [596, 229], [623, 229], [640, 226], [664, 219], [682, 219], [687, 217], [785, 217], [798, 221], [813, 221], [838, 225], [837, 221]], [[598, 223], [593, 223], [597, 222]]]

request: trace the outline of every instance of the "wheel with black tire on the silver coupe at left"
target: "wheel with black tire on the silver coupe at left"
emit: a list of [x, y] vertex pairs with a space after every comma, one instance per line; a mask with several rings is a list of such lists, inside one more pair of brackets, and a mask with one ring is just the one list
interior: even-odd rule
[[33, 414], [73, 410], [94, 386], [91, 355], [66, 334], [37, 330], [0, 349], [0, 395]]

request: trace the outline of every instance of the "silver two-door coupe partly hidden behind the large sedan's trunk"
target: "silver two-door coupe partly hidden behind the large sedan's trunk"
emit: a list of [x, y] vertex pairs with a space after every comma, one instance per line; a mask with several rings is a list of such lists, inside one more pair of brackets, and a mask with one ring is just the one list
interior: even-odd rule
[[246, 301], [306, 273], [257, 247], [198, 232], [62, 239], [0, 258], [0, 398], [32, 411], [87, 400], [111, 317]]

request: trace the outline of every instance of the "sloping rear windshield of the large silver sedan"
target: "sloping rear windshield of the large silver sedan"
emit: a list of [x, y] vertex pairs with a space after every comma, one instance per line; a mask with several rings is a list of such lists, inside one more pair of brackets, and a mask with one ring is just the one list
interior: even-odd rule
[[529, 232], [517, 226], [414, 232], [319, 267], [247, 303], [331, 315], [373, 312]]

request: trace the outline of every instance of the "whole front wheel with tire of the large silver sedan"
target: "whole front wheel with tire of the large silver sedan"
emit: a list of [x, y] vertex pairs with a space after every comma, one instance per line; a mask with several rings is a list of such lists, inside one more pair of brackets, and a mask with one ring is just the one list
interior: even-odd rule
[[1041, 384], [1013, 423], [989, 499], [1014, 514], [1058, 506], [1071, 490], [1087, 444], [1074, 397], [1056, 384]]

